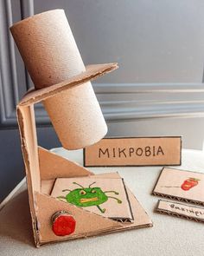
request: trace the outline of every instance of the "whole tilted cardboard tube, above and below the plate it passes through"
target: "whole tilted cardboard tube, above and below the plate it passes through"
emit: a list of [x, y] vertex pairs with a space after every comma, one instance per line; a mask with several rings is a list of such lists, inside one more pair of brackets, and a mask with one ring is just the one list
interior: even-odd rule
[[[52, 86], [86, 71], [64, 10], [29, 17], [10, 30], [35, 89]], [[67, 89], [43, 104], [64, 148], [85, 148], [107, 132], [91, 82]]]

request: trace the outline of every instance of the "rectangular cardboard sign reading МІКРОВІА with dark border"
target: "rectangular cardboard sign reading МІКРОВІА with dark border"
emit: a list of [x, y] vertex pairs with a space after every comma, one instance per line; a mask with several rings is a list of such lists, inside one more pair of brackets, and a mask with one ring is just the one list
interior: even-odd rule
[[85, 167], [181, 165], [182, 137], [108, 138], [84, 149]]

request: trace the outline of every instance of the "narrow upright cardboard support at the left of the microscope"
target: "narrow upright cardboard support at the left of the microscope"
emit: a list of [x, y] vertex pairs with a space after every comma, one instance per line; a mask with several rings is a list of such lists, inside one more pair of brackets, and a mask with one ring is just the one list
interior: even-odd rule
[[39, 245], [35, 212], [35, 192], [41, 191], [41, 175], [37, 150], [34, 105], [17, 107], [17, 120], [22, 141], [22, 156], [25, 164], [29, 207], [34, 231], [35, 245]]

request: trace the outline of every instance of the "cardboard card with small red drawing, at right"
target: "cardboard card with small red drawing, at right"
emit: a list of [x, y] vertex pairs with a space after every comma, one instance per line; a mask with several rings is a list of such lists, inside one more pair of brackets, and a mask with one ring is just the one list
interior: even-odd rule
[[152, 194], [204, 205], [204, 174], [164, 167]]

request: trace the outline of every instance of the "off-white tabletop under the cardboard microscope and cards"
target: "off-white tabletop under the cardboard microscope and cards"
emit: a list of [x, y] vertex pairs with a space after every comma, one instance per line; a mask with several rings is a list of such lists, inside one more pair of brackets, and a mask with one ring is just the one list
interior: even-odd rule
[[[56, 154], [82, 165], [81, 150], [68, 152], [54, 148]], [[182, 150], [182, 166], [204, 172], [204, 153]], [[0, 255], [204, 255], [204, 226], [191, 220], [154, 213], [159, 197], [151, 195], [162, 167], [90, 167], [95, 173], [116, 172], [136, 195], [153, 220], [153, 227], [106, 234], [84, 240], [65, 241], [35, 248], [29, 217], [29, 202], [24, 184], [0, 211]]]

